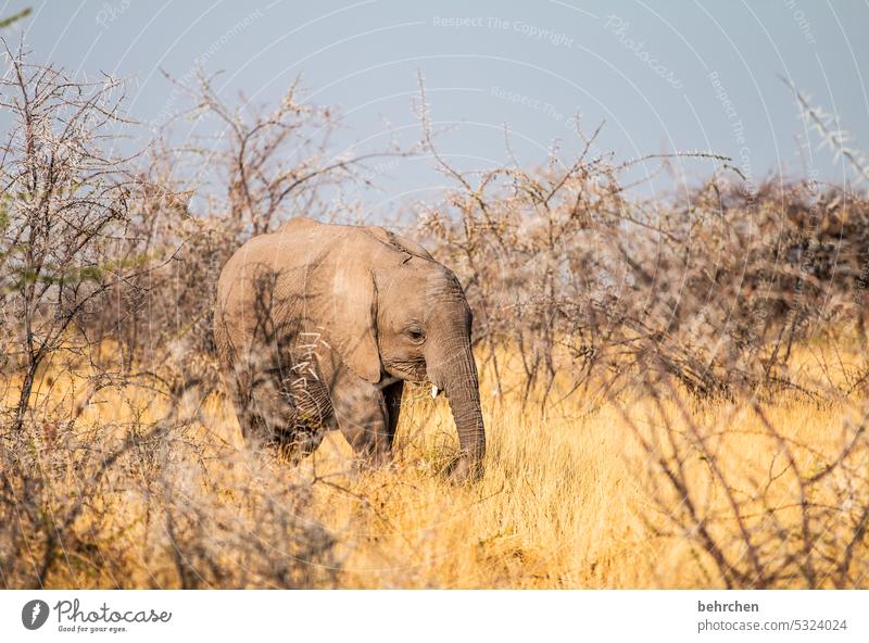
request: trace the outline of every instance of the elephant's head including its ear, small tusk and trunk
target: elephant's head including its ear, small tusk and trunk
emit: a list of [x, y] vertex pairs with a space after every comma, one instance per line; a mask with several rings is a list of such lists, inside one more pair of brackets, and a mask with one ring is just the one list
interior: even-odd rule
[[369, 245], [362, 259], [355, 252], [352, 261], [349, 253], [344, 255], [335, 273], [335, 301], [341, 308], [331, 316], [331, 335], [343, 362], [369, 382], [392, 376], [428, 380], [442, 390], [462, 450], [451, 476], [477, 478], [482, 472], [486, 433], [470, 344], [470, 307], [449, 268], [418, 245], [396, 239], [391, 235], [378, 239], [381, 243]]

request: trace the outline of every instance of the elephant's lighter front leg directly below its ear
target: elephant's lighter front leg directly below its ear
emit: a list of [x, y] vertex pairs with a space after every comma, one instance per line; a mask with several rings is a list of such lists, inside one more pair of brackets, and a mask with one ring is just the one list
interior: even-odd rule
[[347, 441], [373, 464], [390, 459], [389, 411], [380, 387], [342, 369], [331, 386], [335, 418]]

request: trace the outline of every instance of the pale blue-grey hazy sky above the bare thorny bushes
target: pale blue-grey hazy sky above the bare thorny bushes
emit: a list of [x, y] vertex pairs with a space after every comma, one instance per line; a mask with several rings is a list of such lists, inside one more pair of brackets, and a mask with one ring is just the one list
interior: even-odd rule
[[[587, 130], [606, 121], [599, 149], [620, 160], [711, 150], [755, 180], [809, 167], [841, 182], [844, 166], [829, 152], [813, 144], [801, 154], [805, 133], [781, 75], [869, 147], [865, 0], [0, 5], [2, 16], [34, 8], [18, 30], [37, 60], [135, 77], [128, 108], [146, 123], [177, 101], [160, 70], [181, 77], [204, 58], [206, 71], [225, 72], [218, 87], [227, 97], [243, 90], [264, 104], [301, 72], [308, 100], [344, 114], [336, 153], [354, 142], [385, 144], [385, 123], [411, 141], [419, 134], [412, 97], [421, 71], [433, 121], [455, 124], [441, 148], [466, 168], [505, 161], [504, 123], [522, 164], [544, 160], [554, 139], [575, 148], [569, 122], [581, 113]], [[385, 190], [363, 198], [373, 207], [425, 199], [444, 182], [430, 165], [390, 166]], [[684, 166], [691, 176], [710, 169]]]

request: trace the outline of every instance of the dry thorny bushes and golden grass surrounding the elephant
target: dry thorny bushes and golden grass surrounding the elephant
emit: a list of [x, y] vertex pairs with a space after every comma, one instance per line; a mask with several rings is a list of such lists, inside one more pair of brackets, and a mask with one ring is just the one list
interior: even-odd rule
[[[869, 585], [860, 189], [701, 154], [707, 180], [644, 199], [579, 124], [541, 167], [459, 171], [421, 84], [411, 150], [335, 156], [333, 110], [295, 87], [242, 110], [204, 77], [182, 115], [218, 135], [128, 150], [123, 84], [7, 54], [3, 587]], [[335, 194], [415, 153], [454, 188], [382, 223], [474, 307], [486, 476], [446, 481], [421, 388], [389, 467], [337, 434], [297, 467], [256, 451], [211, 343], [223, 263], [294, 214], [357, 223]]]

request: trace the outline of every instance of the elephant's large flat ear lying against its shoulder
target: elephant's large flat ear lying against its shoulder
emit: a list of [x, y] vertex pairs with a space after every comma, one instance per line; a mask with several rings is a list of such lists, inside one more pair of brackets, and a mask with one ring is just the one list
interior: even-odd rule
[[353, 373], [371, 383], [380, 381], [377, 346], [377, 287], [367, 267], [349, 262], [335, 272], [330, 339]]

